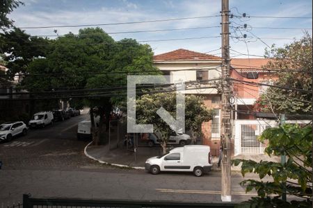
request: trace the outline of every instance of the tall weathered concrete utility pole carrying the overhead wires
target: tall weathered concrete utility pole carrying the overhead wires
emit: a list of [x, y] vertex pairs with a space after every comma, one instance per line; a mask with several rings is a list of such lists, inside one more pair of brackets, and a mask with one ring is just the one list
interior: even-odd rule
[[222, 190], [223, 202], [232, 201], [231, 189], [231, 126], [230, 126], [230, 21], [229, 0], [222, 0], [222, 114], [220, 123], [220, 141], [223, 146], [222, 157]]

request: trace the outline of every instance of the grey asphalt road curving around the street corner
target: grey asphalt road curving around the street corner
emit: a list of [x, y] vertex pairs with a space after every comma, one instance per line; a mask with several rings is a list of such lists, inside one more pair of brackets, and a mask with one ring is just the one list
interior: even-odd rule
[[[77, 123], [88, 115], [30, 130], [25, 137], [0, 144], [0, 207], [34, 197], [220, 202], [220, 172], [150, 175], [99, 164], [83, 154], [88, 141], [77, 141]], [[234, 201], [250, 198], [232, 177]]]

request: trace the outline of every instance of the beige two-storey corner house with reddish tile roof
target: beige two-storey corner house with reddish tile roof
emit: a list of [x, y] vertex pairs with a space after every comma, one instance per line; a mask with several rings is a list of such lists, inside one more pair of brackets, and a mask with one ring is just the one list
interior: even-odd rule
[[[211, 146], [211, 152], [218, 154], [220, 141], [220, 93], [216, 88], [209, 87], [203, 80], [220, 78], [221, 58], [205, 53], [197, 53], [185, 49], [178, 49], [168, 53], [154, 55], [154, 66], [163, 71], [164, 75], [170, 75], [170, 83], [175, 83], [175, 76], [183, 77], [185, 82], [198, 81], [193, 84], [186, 94], [198, 94], [204, 97], [204, 103], [209, 109], [215, 110], [213, 121], [202, 124], [204, 137], [201, 144]], [[186, 86], [188, 89], [188, 85]], [[195, 88], [199, 89], [195, 89]]]

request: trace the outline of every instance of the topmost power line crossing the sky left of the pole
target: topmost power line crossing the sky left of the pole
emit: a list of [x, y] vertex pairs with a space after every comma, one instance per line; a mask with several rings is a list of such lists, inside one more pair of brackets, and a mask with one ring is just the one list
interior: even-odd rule
[[109, 25], [123, 25], [123, 24], [142, 24], [150, 22], [162, 22], [162, 21], [177, 21], [177, 20], [186, 20], [186, 19], [202, 19], [202, 18], [211, 18], [211, 17], [220, 17], [220, 15], [210, 15], [210, 16], [200, 16], [200, 17], [181, 17], [181, 18], [172, 18], [172, 19], [153, 19], [146, 21], [128, 21], [128, 22], [115, 22], [115, 23], [106, 23], [106, 24], [77, 24], [77, 25], [59, 25], [59, 26], [22, 26], [21, 29], [39, 29], [39, 28], [74, 28], [74, 27], [87, 27], [87, 26], [109, 26]]

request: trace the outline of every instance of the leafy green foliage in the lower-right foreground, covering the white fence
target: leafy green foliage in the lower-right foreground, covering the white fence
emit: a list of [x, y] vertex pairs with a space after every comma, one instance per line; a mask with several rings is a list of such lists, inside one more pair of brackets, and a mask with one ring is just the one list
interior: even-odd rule
[[[285, 124], [270, 128], [264, 130], [259, 138], [263, 143], [268, 140], [265, 153], [270, 156], [287, 155], [287, 163], [234, 159], [232, 163], [235, 166], [242, 162], [243, 177], [246, 173], [256, 173], [261, 179], [241, 182], [246, 186], [246, 192], [255, 189], [258, 195], [243, 204], [248, 207], [312, 207], [312, 136], [311, 126], [300, 128]], [[273, 181], [262, 181], [266, 176]], [[280, 199], [283, 193], [303, 200], [285, 202]]]

